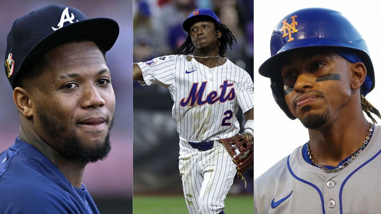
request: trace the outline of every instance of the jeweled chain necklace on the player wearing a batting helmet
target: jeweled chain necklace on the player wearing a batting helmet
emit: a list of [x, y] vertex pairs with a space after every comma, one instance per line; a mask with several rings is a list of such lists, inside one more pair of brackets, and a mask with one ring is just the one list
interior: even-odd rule
[[338, 171], [341, 171], [342, 169], [344, 169], [346, 166], [348, 166], [350, 163], [352, 163], [352, 161], [357, 156], [359, 156], [360, 152], [365, 148], [365, 145], [368, 144], [368, 140], [370, 139], [370, 136], [372, 135], [373, 127], [375, 127], [373, 125], [373, 123], [369, 123], [369, 125], [370, 125], [370, 129], [369, 129], [369, 132], [367, 134], [367, 137], [365, 137], [365, 141], [360, 146], [360, 148], [357, 150], [357, 152], [355, 152], [350, 158], [348, 158], [347, 161], [345, 161], [343, 164], [341, 164], [338, 168], [335, 168], [335, 169], [328, 169], [327, 167], [323, 166], [321, 163], [315, 161], [314, 157], [312, 156], [310, 142], [308, 141], [308, 143], [307, 143], [307, 151], [308, 151], [309, 158], [312, 161], [312, 164], [314, 164], [315, 166], [323, 169], [325, 172], [328, 172], [328, 173], [338, 172]]

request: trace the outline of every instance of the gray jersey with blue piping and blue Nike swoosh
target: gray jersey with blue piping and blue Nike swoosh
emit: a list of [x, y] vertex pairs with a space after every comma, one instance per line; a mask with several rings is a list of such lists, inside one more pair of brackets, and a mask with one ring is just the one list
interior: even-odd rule
[[381, 212], [381, 136], [375, 126], [365, 149], [346, 168], [327, 173], [298, 147], [254, 182], [254, 213], [378, 214]]

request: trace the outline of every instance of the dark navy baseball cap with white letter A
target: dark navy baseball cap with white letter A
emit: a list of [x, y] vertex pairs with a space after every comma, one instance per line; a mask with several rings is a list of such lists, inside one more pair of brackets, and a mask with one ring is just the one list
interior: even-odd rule
[[88, 19], [81, 11], [64, 5], [48, 5], [13, 22], [6, 38], [5, 73], [12, 88], [30, 64], [61, 43], [77, 39], [97, 42], [110, 50], [119, 35], [117, 22]]

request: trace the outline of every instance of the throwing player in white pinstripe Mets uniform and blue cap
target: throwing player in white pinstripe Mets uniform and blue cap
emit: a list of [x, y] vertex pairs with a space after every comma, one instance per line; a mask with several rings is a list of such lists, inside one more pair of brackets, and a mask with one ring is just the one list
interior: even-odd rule
[[176, 55], [133, 65], [134, 80], [160, 84], [174, 101], [179, 133], [179, 170], [189, 213], [224, 213], [224, 199], [236, 174], [229, 153], [218, 143], [239, 133], [238, 106], [245, 134], [253, 134], [253, 81], [223, 57], [234, 36], [210, 9], [197, 9], [184, 21], [188, 32]]

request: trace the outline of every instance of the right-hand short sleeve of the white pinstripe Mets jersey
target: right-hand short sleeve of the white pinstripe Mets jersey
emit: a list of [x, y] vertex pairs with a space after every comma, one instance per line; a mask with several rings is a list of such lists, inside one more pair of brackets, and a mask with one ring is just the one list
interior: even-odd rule
[[250, 75], [244, 71], [243, 78], [240, 84], [240, 89], [237, 94], [238, 105], [242, 112], [245, 113], [254, 107], [254, 85]]

